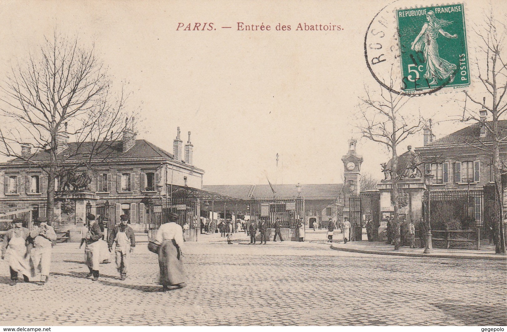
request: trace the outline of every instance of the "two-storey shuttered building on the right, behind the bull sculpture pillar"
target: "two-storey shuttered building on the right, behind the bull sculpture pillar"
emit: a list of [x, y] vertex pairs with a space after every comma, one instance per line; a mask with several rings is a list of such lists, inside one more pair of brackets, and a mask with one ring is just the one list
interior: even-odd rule
[[[485, 112], [482, 116], [482, 121], [486, 121]], [[491, 122], [486, 124], [491, 125]], [[499, 121], [498, 127], [501, 136], [507, 134], [506, 120]], [[439, 204], [439, 201], [457, 202], [463, 200], [463, 197], [466, 198], [464, 206], [460, 207], [465, 215], [456, 217], [461, 219], [463, 226], [484, 226], [489, 222], [488, 193], [495, 183], [491, 148], [491, 134], [484, 124], [478, 122], [438, 140], [434, 140], [432, 128], [425, 127], [424, 144], [416, 149], [423, 160], [422, 171], [433, 175], [432, 205], [433, 200], [436, 201], [435, 204]], [[506, 156], [507, 143], [502, 142], [500, 158], [505, 160]], [[446, 212], [439, 210], [436, 213]], [[447, 213], [452, 214], [449, 211]], [[465, 218], [468, 221], [463, 221]]]

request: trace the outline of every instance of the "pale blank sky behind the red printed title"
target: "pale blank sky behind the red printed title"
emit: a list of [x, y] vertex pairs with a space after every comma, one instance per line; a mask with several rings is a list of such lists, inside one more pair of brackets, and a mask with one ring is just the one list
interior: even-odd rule
[[[488, 6], [482, 0], [465, 2], [472, 77], [477, 39], [469, 31]], [[506, 6], [493, 2], [499, 11]], [[172, 152], [176, 127], [184, 142], [192, 131], [194, 164], [205, 170], [205, 185], [267, 184], [266, 175], [277, 183], [282, 178], [283, 183], [341, 183], [347, 140], [360, 139], [353, 127], [358, 96], [364, 85], [376, 87], [363, 43], [382, 7], [373, 0], [4, 1], [0, 73], [57, 27], [79, 35], [82, 44], [95, 42], [115, 83], [129, 82], [129, 107], [140, 108], [144, 118], [138, 139]], [[176, 31], [179, 22], [213, 22], [216, 30]], [[271, 31], [237, 31], [237, 22], [269, 24]], [[305, 22], [343, 30], [296, 31]], [[292, 30], [276, 31], [278, 23]], [[473, 79], [474, 89], [478, 84]], [[453, 101], [463, 99], [459, 91], [413, 98], [407, 112], [436, 114], [435, 121], [459, 115], [460, 105]], [[437, 124], [434, 134], [439, 138], [462, 126]], [[409, 144], [421, 146], [422, 135], [403, 145]], [[387, 150], [365, 139], [357, 150], [365, 158], [363, 172], [380, 179]]]

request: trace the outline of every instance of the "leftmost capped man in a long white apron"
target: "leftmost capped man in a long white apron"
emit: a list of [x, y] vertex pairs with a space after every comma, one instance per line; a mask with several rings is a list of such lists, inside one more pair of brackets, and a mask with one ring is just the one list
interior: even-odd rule
[[14, 227], [5, 234], [2, 242], [2, 259], [9, 263], [11, 281], [9, 285], [14, 286], [18, 280], [18, 273], [23, 274], [23, 280], [29, 282], [29, 264], [25, 259], [26, 239], [30, 236], [30, 230], [23, 227], [23, 219], [14, 219]]

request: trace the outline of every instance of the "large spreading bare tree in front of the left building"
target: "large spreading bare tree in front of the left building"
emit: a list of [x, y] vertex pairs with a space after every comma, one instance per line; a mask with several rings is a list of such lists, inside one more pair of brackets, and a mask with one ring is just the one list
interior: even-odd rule
[[[55, 179], [90, 165], [124, 129], [123, 87], [113, 90], [93, 46], [82, 47], [77, 38], [55, 31], [13, 66], [0, 90], [0, 154], [47, 174], [48, 217], [53, 218]], [[20, 153], [27, 143], [39, 153]]]

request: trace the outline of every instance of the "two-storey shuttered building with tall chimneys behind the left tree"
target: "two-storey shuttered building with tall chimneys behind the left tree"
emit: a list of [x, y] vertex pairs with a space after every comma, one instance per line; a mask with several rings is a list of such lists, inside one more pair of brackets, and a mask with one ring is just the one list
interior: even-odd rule
[[[66, 149], [73, 149], [76, 144], [67, 143]], [[66, 149], [59, 151], [59, 155], [65, 155]], [[29, 145], [22, 145], [22, 153], [38, 163], [44, 163], [49, 158], [45, 151], [32, 153]], [[92, 205], [107, 202], [115, 210], [116, 222], [119, 222], [120, 215], [126, 214], [136, 230], [147, 228], [149, 211], [146, 210], [146, 204], [150, 200], [171, 196], [173, 187], [202, 189], [204, 171], [193, 164], [190, 131], [184, 146], [179, 127], [172, 154], [146, 140], [137, 140], [134, 128], [130, 127], [123, 132], [121, 141], [108, 143], [100, 154], [92, 156], [90, 160], [89, 168], [78, 169], [77, 173], [87, 172], [91, 178], [84, 191], [88, 192], [88, 198], [93, 198]], [[69, 163], [79, 161], [79, 156], [66, 160]], [[20, 158], [0, 163], [0, 179], [4, 182], [0, 204], [44, 205], [47, 174], [33, 163]], [[77, 196], [71, 196], [69, 193], [72, 190], [64, 188], [62, 181], [64, 179], [55, 179], [55, 226], [60, 231], [66, 231], [79, 226], [82, 220], [79, 220], [80, 214], [76, 213], [79, 207], [73, 207], [73, 204], [80, 204], [72, 198]]]

